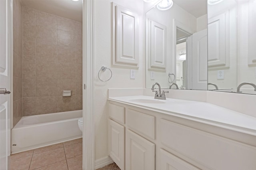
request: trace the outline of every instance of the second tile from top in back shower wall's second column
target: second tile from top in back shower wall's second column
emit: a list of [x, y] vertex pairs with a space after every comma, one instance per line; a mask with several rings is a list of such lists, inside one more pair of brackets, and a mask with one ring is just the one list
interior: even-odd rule
[[37, 25], [36, 42], [48, 45], [57, 45], [57, 29]]

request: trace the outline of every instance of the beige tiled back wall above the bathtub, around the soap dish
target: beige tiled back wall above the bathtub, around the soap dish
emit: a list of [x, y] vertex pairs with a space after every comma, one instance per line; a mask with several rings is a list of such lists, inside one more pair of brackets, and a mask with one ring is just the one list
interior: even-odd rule
[[82, 109], [82, 22], [23, 7], [22, 61], [23, 116]]

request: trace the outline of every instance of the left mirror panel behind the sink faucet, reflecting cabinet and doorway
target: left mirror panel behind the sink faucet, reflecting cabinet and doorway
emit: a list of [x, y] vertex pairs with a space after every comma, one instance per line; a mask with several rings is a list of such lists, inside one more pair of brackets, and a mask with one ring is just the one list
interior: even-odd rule
[[166, 2], [146, 12], [146, 88], [207, 90], [206, 0]]

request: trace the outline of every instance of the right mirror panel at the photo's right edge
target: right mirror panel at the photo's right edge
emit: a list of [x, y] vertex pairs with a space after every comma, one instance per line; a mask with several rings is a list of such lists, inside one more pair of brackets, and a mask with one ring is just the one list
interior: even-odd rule
[[208, 2], [208, 89], [256, 94], [256, 1], [212, 2]]

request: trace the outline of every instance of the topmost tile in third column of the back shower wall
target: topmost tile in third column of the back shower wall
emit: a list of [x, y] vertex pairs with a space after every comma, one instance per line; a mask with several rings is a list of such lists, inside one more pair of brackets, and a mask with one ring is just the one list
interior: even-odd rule
[[58, 17], [58, 30], [76, 32], [76, 21]]

